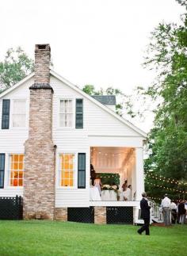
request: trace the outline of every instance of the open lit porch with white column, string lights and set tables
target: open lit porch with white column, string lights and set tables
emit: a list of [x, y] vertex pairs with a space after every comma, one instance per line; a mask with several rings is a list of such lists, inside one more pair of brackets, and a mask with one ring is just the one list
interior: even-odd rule
[[[124, 182], [130, 188], [127, 198]], [[132, 205], [143, 190], [142, 148], [90, 147], [90, 201], [132, 201]]]

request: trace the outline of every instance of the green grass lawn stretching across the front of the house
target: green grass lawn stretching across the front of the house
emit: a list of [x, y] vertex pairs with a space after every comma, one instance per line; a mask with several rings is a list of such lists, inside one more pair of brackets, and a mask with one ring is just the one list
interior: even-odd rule
[[0, 221], [0, 255], [186, 255], [187, 225], [151, 227], [52, 221]]

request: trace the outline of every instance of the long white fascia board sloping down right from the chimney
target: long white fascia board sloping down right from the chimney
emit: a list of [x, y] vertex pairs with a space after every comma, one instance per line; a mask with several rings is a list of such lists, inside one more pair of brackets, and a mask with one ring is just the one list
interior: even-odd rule
[[66, 78], [63, 78], [61, 75], [58, 75], [55, 73], [55, 71], [50, 70], [51, 75], [53, 75], [55, 78], [58, 78], [61, 82], [65, 83], [67, 86], [70, 86], [71, 89], [77, 91], [79, 94], [82, 94], [82, 96], [86, 97], [88, 100], [92, 101], [95, 105], [98, 105], [101, 109], [104, 109], [106, 112], [111, 114], [113, 117], [115, 117], [117, 120], [120, 120], [123, 124], [128, 125], [129, 128], [132, 128], [135, 132], [139, 133], [139, 135], [143, 136], [143, 139], [147, 139], [147, 133], [143, 132], [141, 129], [137, 128], [134, 124], [129, 122], [128, 120], [125, 120], [123, 117], [120, 117], [117, 115], [113, 110], [109, 109], [105, 105], [101, 104], [101, 102], [95, 100], [93, 97], [91, 97], [89, 94], [86, 94], [83, 92], [78, 86], [74, 86], [71, 82], [69, 82]]

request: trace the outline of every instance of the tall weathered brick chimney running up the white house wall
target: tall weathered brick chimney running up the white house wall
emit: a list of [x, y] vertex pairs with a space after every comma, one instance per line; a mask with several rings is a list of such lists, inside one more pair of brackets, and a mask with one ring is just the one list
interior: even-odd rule
[[54, 220], [55, 150], [49, 44], [36, 44], [35, 78], [30, 86], [29, 139], [25, 142], [24, 219]]

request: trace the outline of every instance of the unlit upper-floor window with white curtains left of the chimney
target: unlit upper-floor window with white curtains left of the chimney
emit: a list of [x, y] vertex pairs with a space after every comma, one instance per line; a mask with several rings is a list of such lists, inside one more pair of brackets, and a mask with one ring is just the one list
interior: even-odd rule
[[25, 127], [26, 123], [26, 101], [13, 100], [13, 127]]

